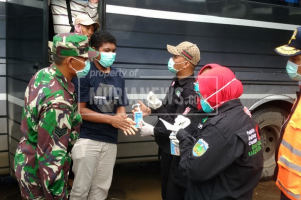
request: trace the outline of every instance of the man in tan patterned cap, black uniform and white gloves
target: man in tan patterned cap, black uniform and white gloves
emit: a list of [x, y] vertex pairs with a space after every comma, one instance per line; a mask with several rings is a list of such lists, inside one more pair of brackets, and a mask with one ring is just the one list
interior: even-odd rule
[[[143, 116], [147, 114], [157, 114], [158, 117], [165, 119], [170, 123], [175, 123], [178, 114], [191, 116], [191, 113], [197, 110], [197, 95], [194, 91], [194, 69], [200, 61], [200, 50], [196, 44], [189, 41], [181, 42], [177, 46], [167, 45], [167, 49], [173, 54], [168, 62], [168, 69], [176, 74], [169, 87], [167, 95], [163, 102], [154, 94], [148, 95], [148, 106], [146, 107], [141, 101], [140, 109]], [[155, 140], [161, 151], [161, 192], [163, 199], [184, 199], [186, 181], [181, 177], [176, 177], [171, 168], [170, 133], [165, 125], [159, 120], [156, 127], [143, 122], [141, 136], [155, 136]], [[175, 164], [177, 165], [177, 161]]]

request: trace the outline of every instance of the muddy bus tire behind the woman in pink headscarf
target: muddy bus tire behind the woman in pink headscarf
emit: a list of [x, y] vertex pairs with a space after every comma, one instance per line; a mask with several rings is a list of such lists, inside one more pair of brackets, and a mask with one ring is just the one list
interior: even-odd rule
[[288, 112], [277, 106], [268, 106], [256, 110], [252, 118], [260, 128], [260, 140], [263, 151], [263, 171], [261, 181], [271, 180], [275, 169], [275, 147], [279, 138], [281, 125], [288, 116]]

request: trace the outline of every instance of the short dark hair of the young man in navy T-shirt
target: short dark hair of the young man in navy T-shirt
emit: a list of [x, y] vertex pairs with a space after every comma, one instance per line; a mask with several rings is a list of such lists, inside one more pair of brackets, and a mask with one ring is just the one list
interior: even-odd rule
[[116, 38], [114, 35], [106, 30], [99, 30], [94, 32], [91, 36], [91, 47], [99, 48], [103, 43], [113, 43], [116, 45]]

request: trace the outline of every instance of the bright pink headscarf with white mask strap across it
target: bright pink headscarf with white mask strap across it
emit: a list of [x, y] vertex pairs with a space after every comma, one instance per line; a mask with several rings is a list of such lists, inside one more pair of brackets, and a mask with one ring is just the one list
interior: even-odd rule
[[212, 107], [216, 105], [218, 107], [223, 102], [236, 99], [243, 92], [240, 80], [237, 80], [234, 73], [224, 66], [216, 66], [206, 73], [198, 75], [197, 81], [199, 82], [200, 93], [204, 99], [207, 99], [210, 95], [227, 85], [207, 99]]

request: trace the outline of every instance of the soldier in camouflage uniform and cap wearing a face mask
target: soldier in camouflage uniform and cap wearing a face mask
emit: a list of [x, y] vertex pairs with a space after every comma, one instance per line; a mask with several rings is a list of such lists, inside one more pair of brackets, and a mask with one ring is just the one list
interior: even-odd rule
[[81, 115], [71, 79], [86, 75], [88, 58], [99, 53], [86, 35], [53, 37], [54, 63], [31, 79], [24, 99], [15, 171], [24, 199], [67, 199], [70, 151], [79, 135]]

